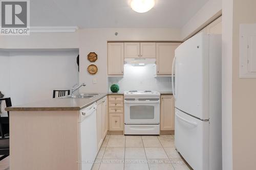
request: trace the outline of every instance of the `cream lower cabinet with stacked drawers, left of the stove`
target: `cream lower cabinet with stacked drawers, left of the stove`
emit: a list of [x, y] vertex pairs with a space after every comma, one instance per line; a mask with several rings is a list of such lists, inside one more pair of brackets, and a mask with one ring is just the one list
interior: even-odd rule
[[109, 130], [123, 130], [123, 95], [109, 95]]

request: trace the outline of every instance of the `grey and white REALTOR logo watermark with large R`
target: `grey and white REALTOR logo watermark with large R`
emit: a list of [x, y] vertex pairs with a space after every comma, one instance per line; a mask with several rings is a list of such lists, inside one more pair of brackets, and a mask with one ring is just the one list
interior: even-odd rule
[[1, 0], [0, 35], [29, 35], [29, 0]]

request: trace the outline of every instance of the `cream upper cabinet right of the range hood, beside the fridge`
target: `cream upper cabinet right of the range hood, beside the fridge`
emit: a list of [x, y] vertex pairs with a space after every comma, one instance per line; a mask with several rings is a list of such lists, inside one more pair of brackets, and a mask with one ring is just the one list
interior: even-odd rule
[[172, 74], [172, 64], [175, 56], [175, 49], [180, 42], [157, 42], [156, 43], [156, 65], [157, 75]]

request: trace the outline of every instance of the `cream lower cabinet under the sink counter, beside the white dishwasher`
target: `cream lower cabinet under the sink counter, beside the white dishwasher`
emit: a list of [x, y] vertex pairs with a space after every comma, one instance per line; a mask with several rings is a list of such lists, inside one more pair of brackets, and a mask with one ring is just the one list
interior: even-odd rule
[[108, 132], [108, 112], [106, 112], [106, 98], [99, 100], [97, 102], [97, 147], [98, 150], [101, 147], [101, 144], [106, 136], [106, 132]]

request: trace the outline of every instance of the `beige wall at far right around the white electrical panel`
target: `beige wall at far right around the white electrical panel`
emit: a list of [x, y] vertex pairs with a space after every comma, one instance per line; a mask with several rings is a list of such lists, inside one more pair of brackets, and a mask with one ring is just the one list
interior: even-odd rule
[[256, 168], [256, 79], [239, 79], [239, 25], [256, 23], [255, 0], [233, 0], [233, 169]]

